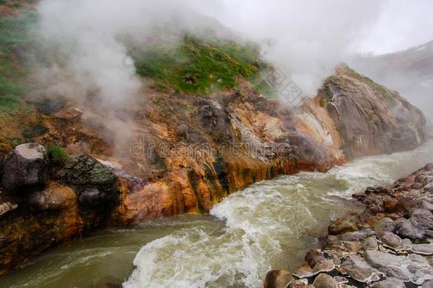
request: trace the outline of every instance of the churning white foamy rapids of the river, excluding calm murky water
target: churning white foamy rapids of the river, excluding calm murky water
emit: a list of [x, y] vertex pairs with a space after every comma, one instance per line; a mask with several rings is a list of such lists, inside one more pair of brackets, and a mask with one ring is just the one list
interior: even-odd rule
[[367, 186], [395, 181], [433, 161], [433, 143], [415, 151], [358, 159], [326, 174], [262, 181], [211, 210], [224, 228], [197, 225], [144, 245], [124, 287], [261, 287], [266, 271], [295, 268], [330, 220]]

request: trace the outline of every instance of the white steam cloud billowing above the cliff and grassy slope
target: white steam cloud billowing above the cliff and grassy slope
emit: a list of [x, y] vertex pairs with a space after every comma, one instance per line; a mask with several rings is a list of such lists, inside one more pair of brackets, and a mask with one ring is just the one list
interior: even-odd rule
[[[425, 29], [432, 22], [428, 15], [433, 6], [423, 0], [409, 6], [401, 0], [43, 0], [38, 5], [38, 33], [50, 43], [56, 60], [40, 69], [40, 75], [54, 95], [76, 102], [85, 102], [90, 95], [105, 107], [117, 108], [133, 100], [143, 84], [122, 36], [142, 40], [153, 26], [169, 21], [185, 30], [219, 21], [260, 43], [266, 60], [283, 70], [305, 95], [313, 96], [334, 66], [360, 48], [380, 53], [433, 38], [433, 32]], [[201, 15], [217, 21], [205, 23], [207, 18]], [[390, 23], [406, 28], [392, 31]], [[384, 33], [388, 40], [380, 43]], [[398, 41], [390, 40], [394, 37]]]

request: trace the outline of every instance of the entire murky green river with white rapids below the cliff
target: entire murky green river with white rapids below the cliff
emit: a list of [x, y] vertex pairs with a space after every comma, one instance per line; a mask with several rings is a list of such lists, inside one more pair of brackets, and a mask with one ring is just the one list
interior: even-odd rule
[[371, 156], [326, 174], [262, 181], [214, 206], [75, 240], [0, 277], [0, 287], [261, 287], [272, 268], [294, 269], [329, 222], [358, 210], [352, 193], [390, 183], [433, 161], [433, 142]]

